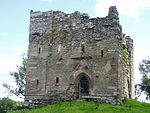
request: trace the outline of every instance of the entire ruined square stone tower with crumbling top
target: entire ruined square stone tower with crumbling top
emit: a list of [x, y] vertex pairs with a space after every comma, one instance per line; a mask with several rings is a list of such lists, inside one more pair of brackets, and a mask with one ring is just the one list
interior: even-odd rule
[[133, 40], [122, 32], [115, 6], [103, 18], [30, 12], [26, 106], [124, 98], [134, 98]]

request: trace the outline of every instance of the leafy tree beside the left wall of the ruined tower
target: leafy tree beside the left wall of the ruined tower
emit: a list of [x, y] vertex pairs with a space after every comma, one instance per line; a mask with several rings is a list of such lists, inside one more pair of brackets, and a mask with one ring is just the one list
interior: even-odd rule
[[24, 95], [25, 90], [25, 75], [26, 75], [26, 68], [27, 68], [27, 58], [26, 55], [22, 55], [22, 64], [17, 66], [17, 71], [10, 72], [10, 76], [15, 79], [16, 88], [10, 86], [6, 83], [3, 84], [3, 87], [7, 89], [9, 94], [14, 94], [20, 98]]

